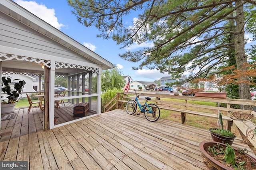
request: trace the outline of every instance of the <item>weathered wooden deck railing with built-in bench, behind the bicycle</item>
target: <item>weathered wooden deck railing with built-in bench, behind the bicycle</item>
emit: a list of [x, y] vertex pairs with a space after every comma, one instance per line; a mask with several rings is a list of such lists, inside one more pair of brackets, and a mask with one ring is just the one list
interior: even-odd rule
[[[202, 97], [191, 97], [191, 96], [174, 96], [169, 94], [152, 94], [152, 93], [141, 93], [139, 100], [144, 103], [144, 97], [151, 97], [150, 102], [154, 102], [160, 109], [166, 109], [170, 111], [176, 111], [181, 113], [181, 122], [186, 124], [186, 114], [200, 115], [204, 117], [212, 117], [218, 119], [218, 112], [220, 111], [223, 114], [223, 119], [227, 121], [226, 129], [230, 130], [233, 122], [238, 127], [242, 137], [246, 137], [246, 130], [249, 126], [256, 126], [251, 121], [244, 123], [243, 121], [233, 121], [231, 112], [242, 111], [244, 113], [251, 113], [256, 117], [256, 112], [252, 110], [242, 110], [231, 108], [231, 105], [247, 105], [247, 106], [256, 106], [256, 100], [242, 100], [242, 99], [221, 99], [221, 98], [202, 98]], [[130, 99], [135, 99], [135, 93], [133, 92], [123, 92], [118, 93], [106, 106], [104, 106], [104, 111], [109, 111], [113, 108], [125, 109], [126, 102]], [[176, 100], [172, 100], [176, 99]], [[178, 100], [177, 100], [178, 99]], [[194, 102], [214, 102], [216, 106], [205, 106], [203, 104], [194, 104]], [[114, 103], [114, 104], [113, 104]], [[222, 107], [217, 105], [218, 103], [222, 104]], [[110, 104], [112, 104], [110, 106]], [[223, 104], [226, 104], [226, 107], [223, 107]], [[172, 107], [175, 106], [175, 107]], [[225, 105], [224, 105], [225, 106]], [[197, 111], [200, 109], [200, 111]], [[202, 111], [203, 109], [203, 111]], [[212, 111], [215, 111], [216, 114], [213, 114]], [[248, 142], [256, 147], [256, 139], [250, 139]]]

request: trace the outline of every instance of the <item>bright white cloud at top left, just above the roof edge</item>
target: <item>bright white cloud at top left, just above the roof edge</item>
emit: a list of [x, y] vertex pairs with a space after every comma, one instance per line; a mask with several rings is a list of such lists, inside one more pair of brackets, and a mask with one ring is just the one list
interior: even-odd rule
[[24, 0], [14, 0], [14, 2], [57, 29], [61, 29], [65, 26], [58, 22], [58, 18], [55, 16], [55, 10], [47, 8], [44, 4], [37, 4], [35, 1]]

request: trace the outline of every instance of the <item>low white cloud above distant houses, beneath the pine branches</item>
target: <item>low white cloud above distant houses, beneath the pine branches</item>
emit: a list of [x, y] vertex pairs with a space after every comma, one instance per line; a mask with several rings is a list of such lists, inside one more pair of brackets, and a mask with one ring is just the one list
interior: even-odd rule
[[135, 75], [142, 78], [141, 80], [138, 80], [138, 81], [154, 81], [154, 80], [159, 80], [164, 76], [170, 76], [167, 72], [160, 73], [159, 70], [155, 70], [155, 69], [154, 70], [149, 70], [149, 69], [136, 70]]

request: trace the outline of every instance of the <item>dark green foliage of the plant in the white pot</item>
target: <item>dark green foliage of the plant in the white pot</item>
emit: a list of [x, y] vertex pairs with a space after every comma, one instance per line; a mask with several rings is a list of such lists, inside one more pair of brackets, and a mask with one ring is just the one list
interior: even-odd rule
[[[19, 79], [14, 79], [19, 80]], [[8, 102], [2, 102], [2, 104], [11, 104], [14, 102], [18, 102], [21, 92], [23, 91], [24, 85], [26, 82], [24, 80], [20, 80], [14, 84], [14, 90], [11, 90], [10, 84], [12, 80], [9, 77], [2, 77], [2, 92], [6, 93], [8, 96]]]

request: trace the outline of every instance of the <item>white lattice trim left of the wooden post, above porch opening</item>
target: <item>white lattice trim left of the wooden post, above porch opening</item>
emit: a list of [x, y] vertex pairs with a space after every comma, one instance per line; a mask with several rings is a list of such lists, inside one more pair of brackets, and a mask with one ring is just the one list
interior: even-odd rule
[[51, 66], [51, 61], [47, 61], [44, 59], [36, 59], [36, 58], [32, 58], [32, 57], [23, 57], [20, 55], [0, 53], [0, 61], [10, 61], [10, 60], [28, 61], [28, 62], [38, 63], [38, 64], [43, 63], [44, 66], [47, 66], [49, 68]]

